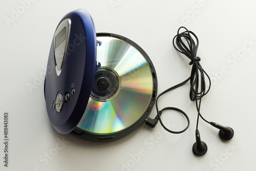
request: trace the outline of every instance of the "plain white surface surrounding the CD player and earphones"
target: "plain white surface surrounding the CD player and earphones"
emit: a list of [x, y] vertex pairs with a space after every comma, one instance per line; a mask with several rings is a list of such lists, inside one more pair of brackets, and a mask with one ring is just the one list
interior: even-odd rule
[[[1, 0], [1, 170], [256, 169], [255, 1], [29, 2]], [[189, 115], [191, 124], [183, 134], [167, 133], [160, 124], [155, 129], [143, 124], [110, 142], [58, 134], [47, 116], [42, 78], [59, 20], [78, 8], [92, 15], [96, 32], [132, 39], [150, 56], [159, 93], [190, 74], [189, 60], [172, 45], [178, 27], [183, 25], [196, 33], [200, 63], [213, 83], [203, 98], [201, 113], [210, 121], [232, 127], [232, 140], [222, 142], [218, 130], [200, 120], [201, 139], [207, 143], [208, 152], [202, 157], [193, 154], [197, 113], [188, 97], [188, 84], [159, 100], [159, 108], [176, 106]], [[34, 88], [29, 89], [28, 84]], [[4, 112], [10, 115], [8, 168], [3, 162]], [[154, 107], [150, 116], [155, 114]], [[186, 125], [176, 112], [164, 113], [163, 119], [176, 131]], [[60, 144], [60, 140], [65, 142]]]

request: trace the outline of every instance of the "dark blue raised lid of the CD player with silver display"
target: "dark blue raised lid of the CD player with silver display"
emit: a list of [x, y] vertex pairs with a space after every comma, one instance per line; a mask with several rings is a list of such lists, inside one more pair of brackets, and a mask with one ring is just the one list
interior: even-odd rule
[[48, 116], [55, 130], [70, 133], [90, 98], [96, 68], [96, 32], [84, 9], [65, 15], [55, 30], [45, 79]]

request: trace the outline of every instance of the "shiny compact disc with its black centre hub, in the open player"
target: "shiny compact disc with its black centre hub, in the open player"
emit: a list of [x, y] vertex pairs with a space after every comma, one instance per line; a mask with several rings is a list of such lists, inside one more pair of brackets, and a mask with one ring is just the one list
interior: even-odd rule
[[155, 70], [146, 53], [127, 40], [113, 34], [97, 34], [97, 41], [101, 42], [97, 46], [100, 67], [76, 130], [98, 136], [128, 133], [151, 111], [157, 86]]

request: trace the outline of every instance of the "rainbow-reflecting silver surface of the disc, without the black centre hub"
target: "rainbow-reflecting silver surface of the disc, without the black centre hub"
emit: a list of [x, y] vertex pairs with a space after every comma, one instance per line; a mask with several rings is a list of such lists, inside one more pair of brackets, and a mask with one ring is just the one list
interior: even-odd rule
[[97, 61], [117, 74], [119, 85], [112, 98], [90, 98], [77, 127], [94, 134], [112, 134], [132, 126], [143, 116], [153, 94], [150, 66], [132, 45], [114, 37], [97, 37]]

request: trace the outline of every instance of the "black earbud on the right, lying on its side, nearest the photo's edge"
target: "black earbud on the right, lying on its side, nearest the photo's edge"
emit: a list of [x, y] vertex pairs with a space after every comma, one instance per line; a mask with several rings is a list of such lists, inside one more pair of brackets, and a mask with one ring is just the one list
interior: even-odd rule
[[231, 129], [231, 127], [222, 126], [222, 125], [220, 125], [220, 124], [218, 124], [218, 123], [215, 123], [215, 122], [210, 122], [210, 124], [220, 130], [219, 136], [220, 136], [220, 138], [221, 138], [222, 140], [228, 141], [228, 140], [230, 140], [231, 138], [233, 138], [233, 136], [234, 136], [234, 130]]

